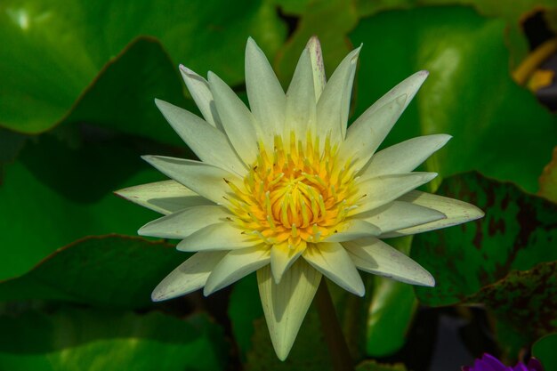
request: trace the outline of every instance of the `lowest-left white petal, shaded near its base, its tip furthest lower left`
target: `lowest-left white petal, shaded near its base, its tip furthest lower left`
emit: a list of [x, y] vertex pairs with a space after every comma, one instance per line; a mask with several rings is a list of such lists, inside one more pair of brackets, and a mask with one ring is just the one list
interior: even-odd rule
[[177, 296], [190, 294], [205, 286], [206, 280], [214, 266], [226, 255], [225, 251], [212, 251], [191, 255], [190, 259], [182, 262], [165, 279], [158, 284], [151, 294], [153, 302], [172, 299]]

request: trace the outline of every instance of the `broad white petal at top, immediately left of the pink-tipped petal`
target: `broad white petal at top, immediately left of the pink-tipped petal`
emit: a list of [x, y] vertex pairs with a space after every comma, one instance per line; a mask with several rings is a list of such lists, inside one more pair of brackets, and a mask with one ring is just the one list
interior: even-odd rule
[[249, 107], [260, 125], [260, 138], [272, 148], [275, 134], [282, 134], [287, 98], [262, 50], [249, 37], [246, 44], [246, 91]]

